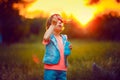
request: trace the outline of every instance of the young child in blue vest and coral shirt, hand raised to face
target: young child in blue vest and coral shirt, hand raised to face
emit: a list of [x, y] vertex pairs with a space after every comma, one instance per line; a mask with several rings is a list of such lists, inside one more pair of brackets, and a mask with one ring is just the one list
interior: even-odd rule
[[44, 80], [67, 80], [67, 56], [71, 53], [71, 44], [63, 30], [63, 20], [59, 14], [53, 14], [47, 21], [43, 44], [46, 46], [44, 62]]

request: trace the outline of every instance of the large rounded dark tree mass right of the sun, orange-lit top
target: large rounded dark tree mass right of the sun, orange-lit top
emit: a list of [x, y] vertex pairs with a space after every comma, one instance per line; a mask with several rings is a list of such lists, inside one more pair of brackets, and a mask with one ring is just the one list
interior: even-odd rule
[[120, 40], [120, 16], [111, 11], [94, 19], [88, 27], [89, 37], [98, 40]]

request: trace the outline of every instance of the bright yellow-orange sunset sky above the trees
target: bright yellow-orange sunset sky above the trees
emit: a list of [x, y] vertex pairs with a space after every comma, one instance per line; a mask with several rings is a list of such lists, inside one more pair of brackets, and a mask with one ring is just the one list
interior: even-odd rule
[[[26, 0], [24, 0], [26, 1]], [[20, 15], [26, 18], [47, 17], [53, 13], [65, 13], [69, 19], [73, 15], [83, 26], [92, 20], [96, 14], [109, 10], [120, 12], [120, 4], [115, 0], [100, 0], [94, 5], [87, 5], [90, 0], [28, 0], [31, 4], [14, 4], [20, 10]]]

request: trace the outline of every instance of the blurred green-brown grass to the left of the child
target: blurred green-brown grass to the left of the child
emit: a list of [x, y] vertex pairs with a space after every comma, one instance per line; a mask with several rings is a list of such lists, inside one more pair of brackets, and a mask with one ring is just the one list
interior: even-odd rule
[[[42, 57], [44, 46], [41, 43], [12, 44], [1, 46], [0, 65], [2, 80], [42, 80]], [[32, 56], [37, 55], [41, 64], [34, 63]]]

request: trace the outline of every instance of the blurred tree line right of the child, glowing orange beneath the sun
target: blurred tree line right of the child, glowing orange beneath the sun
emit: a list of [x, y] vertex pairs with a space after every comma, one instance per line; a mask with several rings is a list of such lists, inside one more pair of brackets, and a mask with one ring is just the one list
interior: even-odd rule
[[74, 21], [66, 26], [70, 38], [120, 41], [120, 15], [115, 11], [97, 16], [85, 29]]

